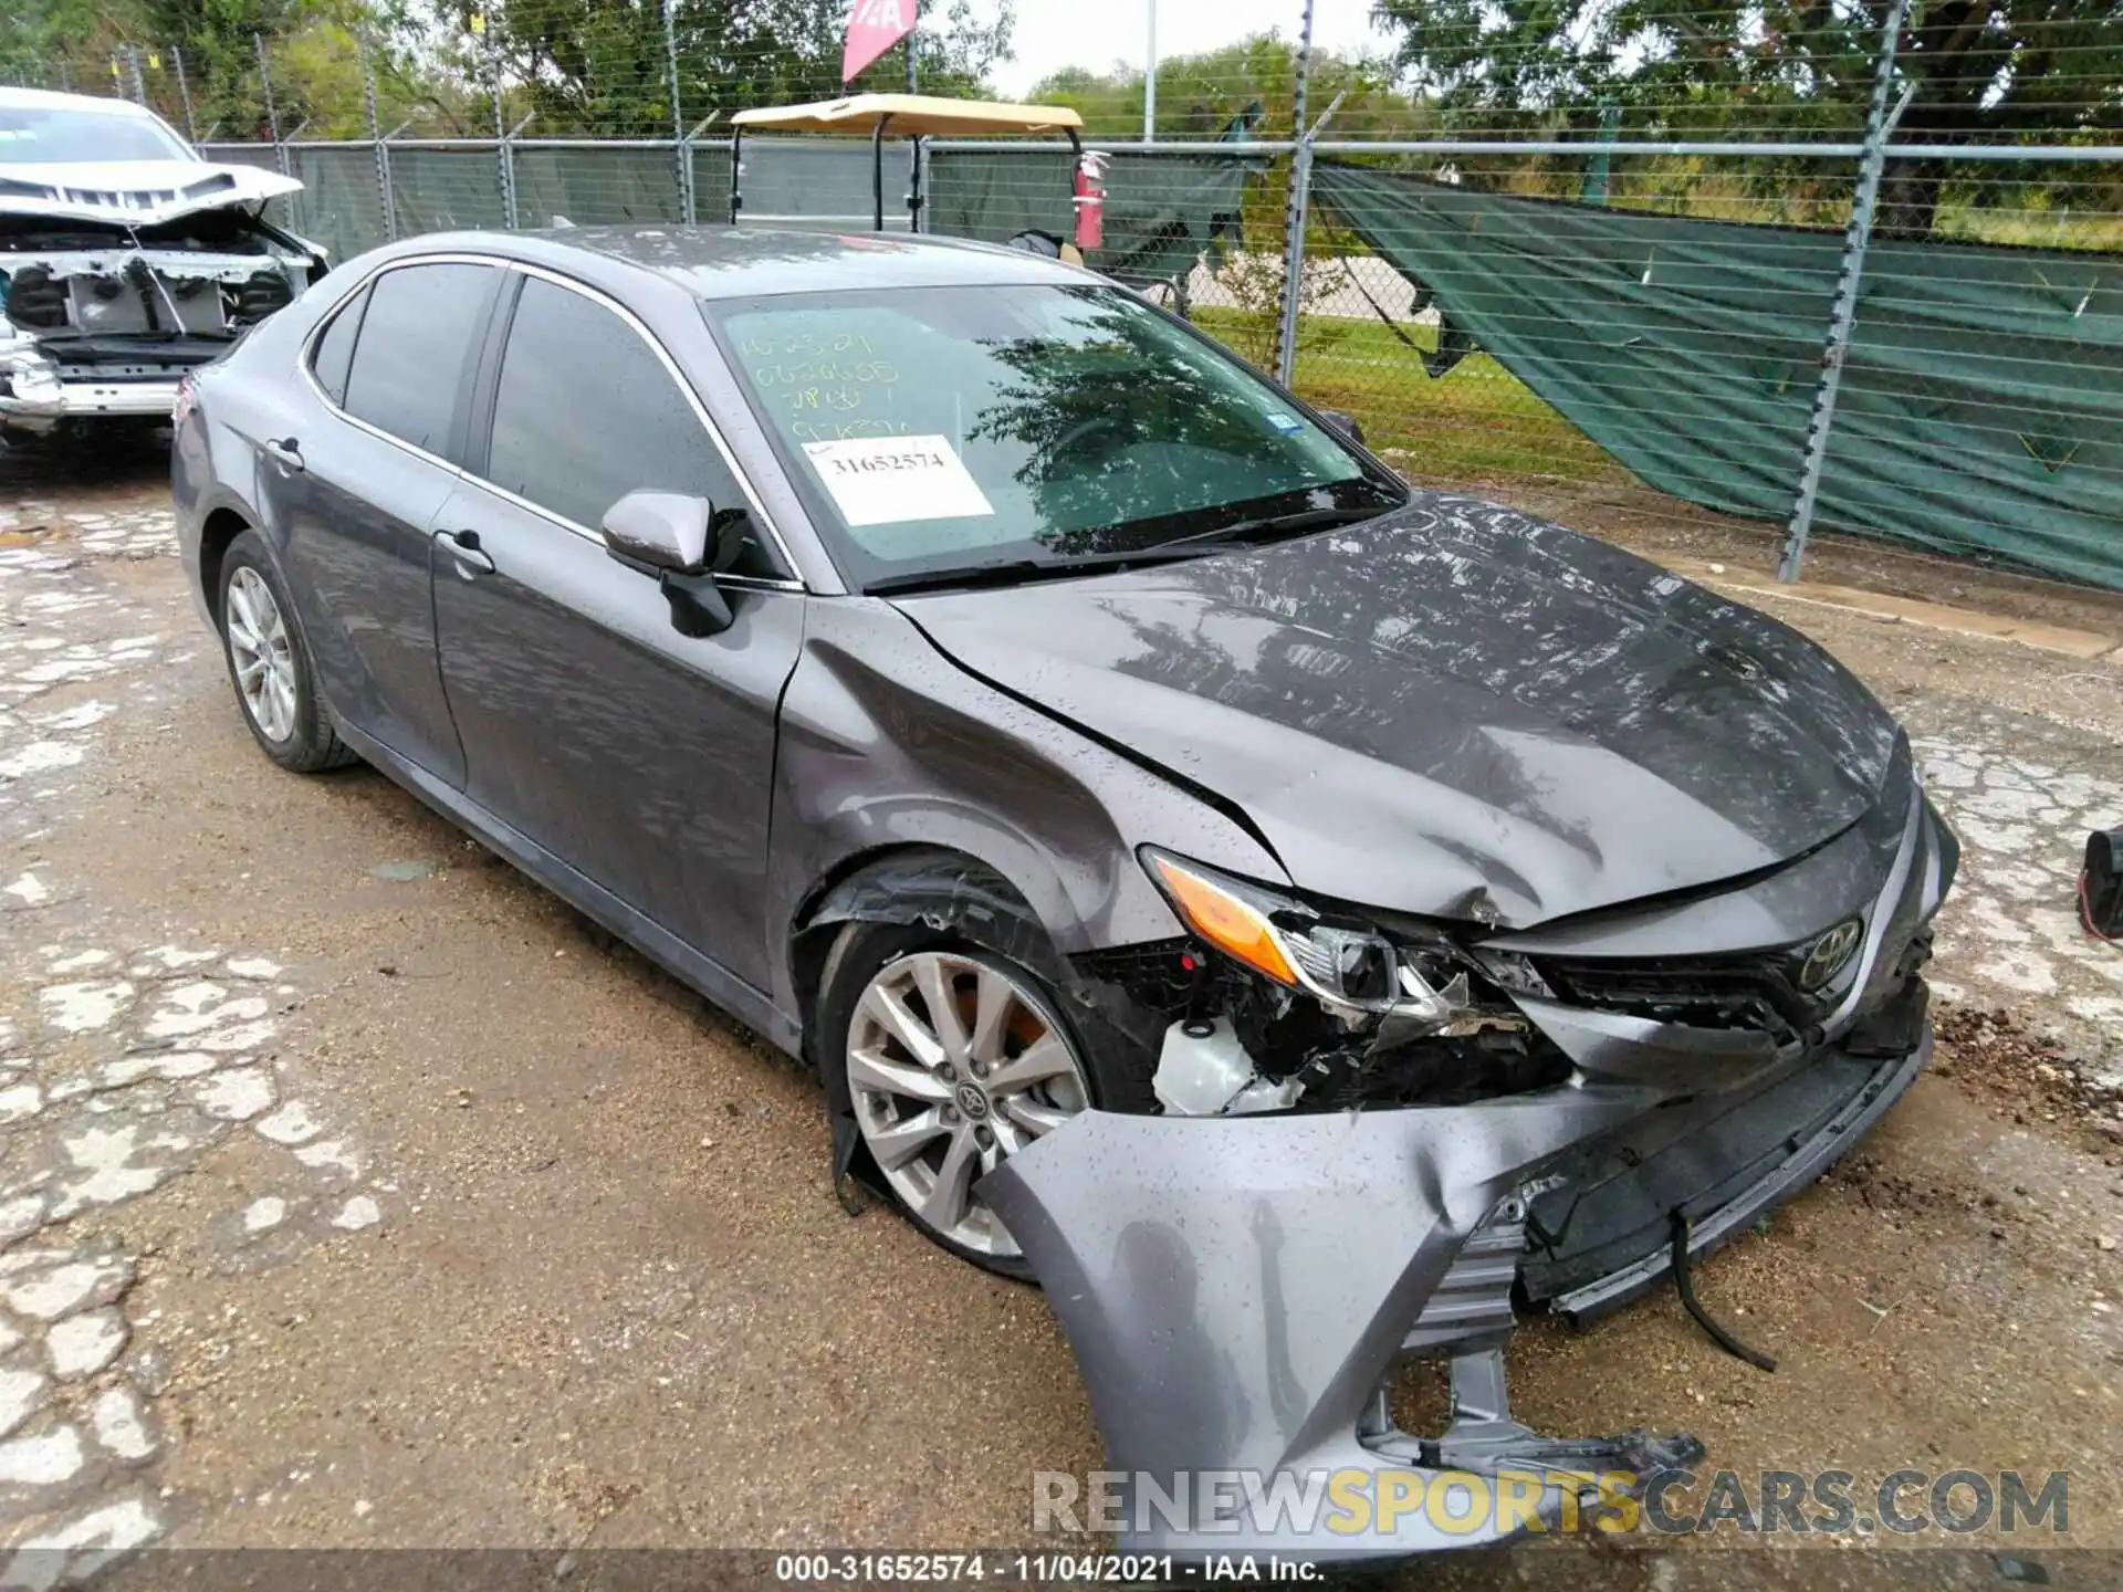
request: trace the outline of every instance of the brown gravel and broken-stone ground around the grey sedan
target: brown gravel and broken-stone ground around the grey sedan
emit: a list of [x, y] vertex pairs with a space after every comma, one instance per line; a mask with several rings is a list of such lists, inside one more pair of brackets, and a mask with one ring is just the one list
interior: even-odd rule
[[[159, 471], [0, 465], [0, 1547], [1025, 1541], [1030, 1473], [1100, 1458], [1040, 1295], [847, 1218], [807, 1078], [397, 788], [272, 768]], [[1516, 1412], [1741, 1473], [2068, 1469], [2070, 1541], [2123, 1547], [2123, 951], [2070, 915], [2123, 675], [1781, 618], [1966, 845], [1943, 1066], [1703, 1267], [1775, 1375], [1662, 1291], [1522, 1331]], [[1639, 1558], [1516, 1556], [1849, 1564]]]

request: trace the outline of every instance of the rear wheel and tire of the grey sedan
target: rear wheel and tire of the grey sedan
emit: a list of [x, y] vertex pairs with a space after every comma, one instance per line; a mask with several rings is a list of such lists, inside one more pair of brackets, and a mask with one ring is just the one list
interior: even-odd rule
[[316, 700], [310, 647], [257, 531], [244, 531], [221, 556], [217, 596], [236, 705], [265, 756], [297, 775], [355, 762]]

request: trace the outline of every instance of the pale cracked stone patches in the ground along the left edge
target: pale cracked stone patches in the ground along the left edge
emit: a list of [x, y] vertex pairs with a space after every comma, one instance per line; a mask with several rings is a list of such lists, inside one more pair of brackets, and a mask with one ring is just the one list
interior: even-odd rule
[[[70, 514], [68, 529], [0, 546], [0, 836], [11, 855], [66, 824], [102, 726], [149, 709], [157, 671], [202, 654], [212, 662], [197, 630], [138, 626], [93, 577], [100, 563], [170, 558], [168, 509]], [[301, 987], [291, 970], [257, 949], [140, 945], [49, 868], [0, 883], [0, 945], [25, 991], [0, 1017], [0, 1543], [19, 1556], [0, 1584], [15, 1586], [72, 1577], [166, 1526], [161, 1373], [138, 1348], [151, 1327], [130, 1314], [151, 1259], [91, 1238], [102, 1218], [195, 1172], [238, 1134], [284, 1157], [270, 1191], [217, 1223], [236, 1263], [278, 1265], [378, 1227], [384, 1184], [365, 1180], [359, 1148], [295, 1093], [289, 1027]]]

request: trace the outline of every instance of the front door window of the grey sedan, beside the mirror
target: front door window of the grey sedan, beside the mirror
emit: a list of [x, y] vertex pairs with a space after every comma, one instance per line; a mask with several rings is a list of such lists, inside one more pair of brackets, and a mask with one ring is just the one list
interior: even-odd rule
[[[590, 397], [594, 395], [594, 397]], [[486, 480], [586, 531], [633, 490], [745, 495], [656, 350], [603, 304], [529, 276], [495, 388]], [[752, 529], [741, 575], [781, 573]]]

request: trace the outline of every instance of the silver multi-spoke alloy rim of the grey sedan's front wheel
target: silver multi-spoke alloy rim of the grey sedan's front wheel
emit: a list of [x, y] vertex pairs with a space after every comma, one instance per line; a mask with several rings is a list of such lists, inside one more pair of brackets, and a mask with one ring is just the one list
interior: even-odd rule
[[1045, 1000], [953, 951], [885, 964], [847, 1025], [862, 1142], [915, 1218], [962, 1248], [1019, 1254], [972, 1184], [1091, 1104]]

